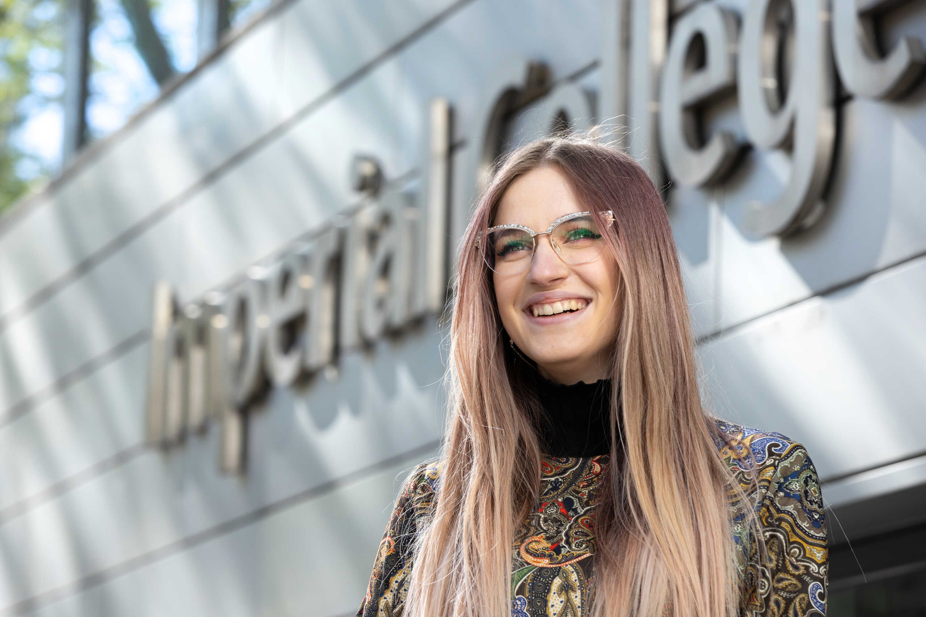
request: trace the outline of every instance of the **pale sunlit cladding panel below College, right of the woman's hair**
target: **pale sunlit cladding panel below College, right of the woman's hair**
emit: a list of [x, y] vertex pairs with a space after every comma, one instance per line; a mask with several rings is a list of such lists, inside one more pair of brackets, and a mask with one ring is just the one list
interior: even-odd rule
[[922, 315], [926, 257], [734, 328], [700, 347], [716, 410], [803, 442], [823, 479], [915, 457]]

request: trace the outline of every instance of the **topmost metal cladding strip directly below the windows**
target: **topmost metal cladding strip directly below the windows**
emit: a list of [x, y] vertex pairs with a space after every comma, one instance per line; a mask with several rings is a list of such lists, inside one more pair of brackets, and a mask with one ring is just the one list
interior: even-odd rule
[[9, 228], [0, 224], [0, 271], [17, 273], [0, 278], [0, 315], [157, 208], [188, 199], [204, 177], [455, 4], [302, 0], [258, 24], [60, 191]]

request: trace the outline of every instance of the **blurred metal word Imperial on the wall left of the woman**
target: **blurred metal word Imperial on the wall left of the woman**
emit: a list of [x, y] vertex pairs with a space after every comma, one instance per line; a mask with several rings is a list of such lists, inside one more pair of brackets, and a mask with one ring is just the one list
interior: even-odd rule
[[222, 426], [220, 468], [241, 471], [244, 413], [269, 385], [291, 386], [332, 364], [338, 352], [444, 307], [449, 131], [450, 105], [436, 99], [418, 204], [382, 187], [375, 159], [360, 156], [352, 172], [365, 199], [349, 218], [338, 217], [202, 302], [181, 307], [169, 285], [158, 283], [149, 444], [176, 445], [214, 419]]

